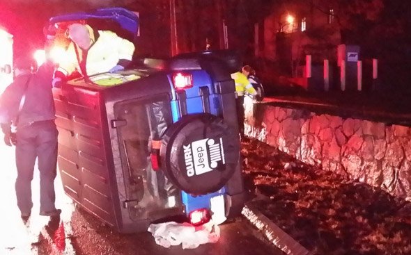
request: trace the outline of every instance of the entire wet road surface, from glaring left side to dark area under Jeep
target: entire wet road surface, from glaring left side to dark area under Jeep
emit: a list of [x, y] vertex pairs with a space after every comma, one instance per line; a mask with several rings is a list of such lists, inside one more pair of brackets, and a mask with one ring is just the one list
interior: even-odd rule
[[56, 179], [56, 207], [61, 219], [52, 222], [38, 215], [38, 173], [33, 179], [34, 207], [29, 222], [22, 222], [16, 205], [14, 148], [0, 145], [0, 254], [282, 254], [243, 217], [222, 224], [217, 243], [196, 249], [164, 248], [155, 244], [150, 233], [120, 234], [102, 224], [82, 208], [76, 208]]

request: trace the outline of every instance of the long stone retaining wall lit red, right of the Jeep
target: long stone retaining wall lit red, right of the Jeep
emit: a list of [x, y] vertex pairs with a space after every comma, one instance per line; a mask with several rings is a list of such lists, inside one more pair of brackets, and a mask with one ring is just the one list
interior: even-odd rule
[[245, 133], [323, 170], [411, 200], [411, 129], [267, 104], [246, 105]]

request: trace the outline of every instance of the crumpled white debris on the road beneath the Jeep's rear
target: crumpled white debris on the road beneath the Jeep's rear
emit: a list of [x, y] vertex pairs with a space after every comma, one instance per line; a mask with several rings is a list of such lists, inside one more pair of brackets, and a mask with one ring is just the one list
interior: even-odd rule
[[183, 249], [195, 249], [199, 245], [219, 240], [219, 227], [212, 220], [199, 227], [176, 222], [150, 224], [148, 231], [153, 235], [157, 245], [166, 248], [181, 244]]

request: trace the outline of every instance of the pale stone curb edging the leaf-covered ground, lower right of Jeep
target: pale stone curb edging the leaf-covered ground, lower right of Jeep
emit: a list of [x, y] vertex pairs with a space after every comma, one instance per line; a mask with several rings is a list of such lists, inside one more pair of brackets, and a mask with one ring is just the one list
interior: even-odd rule
[[268, 241], [284, 253], [293, 255], [313, 254], [291, 236], [288, 236], [286, 232], [263, 215], [253, 204], [246, 204], [244, 208], [242, 208], [241, 214], [244, 215], [254, 227], [260, 230]]

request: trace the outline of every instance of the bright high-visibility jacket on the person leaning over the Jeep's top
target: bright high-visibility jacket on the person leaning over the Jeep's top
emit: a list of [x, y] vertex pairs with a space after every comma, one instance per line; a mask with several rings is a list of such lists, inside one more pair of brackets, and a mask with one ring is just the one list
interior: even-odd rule
[[[91, 31], [92, 34], [93, 31]], [[111, 31], [98, 31], [98, 34], [100, 36], [87, 52], [71, 42], [67, 51], [65, 51], [65, 57], [59, 63], [57, 71], [68, 76], [77, 69], [85, 75], [84, 68], [81, 68], [79, 64], [84, 57], [86, 57], [85, 70], [88, 76], [109, 72], [121, 59], [132, 60], [134, 53], [134, 44], [132, 42]], [[94, 38], [91, 38], [91, 40], [94, 41]], [[86, 54], [84, 54], [85, 52]]]

